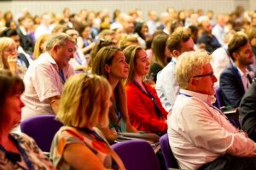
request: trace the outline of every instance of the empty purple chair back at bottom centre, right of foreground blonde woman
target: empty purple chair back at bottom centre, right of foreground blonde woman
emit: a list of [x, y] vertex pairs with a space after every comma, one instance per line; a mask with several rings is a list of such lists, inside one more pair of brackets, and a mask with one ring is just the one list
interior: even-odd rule
[[124, 162], [127, 170], [160, 170], [154, 150], [144, 140], [123, 141], [111, 147]]

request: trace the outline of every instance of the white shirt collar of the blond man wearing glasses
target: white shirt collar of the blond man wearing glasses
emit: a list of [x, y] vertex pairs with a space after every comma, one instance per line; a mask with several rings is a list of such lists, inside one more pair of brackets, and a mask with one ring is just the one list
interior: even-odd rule
[[201, 99], [202, 101], [206, 102], [208, 105], [212, 105], [212, 103], [215, 102], [215, 97], [213, 95], [200, 94], [200, 93], [185, 90], [185, 89], [180, 89], [180, 94], [186, 94], [191, 97]]

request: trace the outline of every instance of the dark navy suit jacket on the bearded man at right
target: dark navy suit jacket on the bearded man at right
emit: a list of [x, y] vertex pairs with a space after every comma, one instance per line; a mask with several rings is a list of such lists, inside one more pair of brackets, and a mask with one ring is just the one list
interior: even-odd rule
[[230, 65], [221, 73], [219, 77], [219, 88], [224, 105], [231, 105], [233, 107], [239, 106], [241, 98], [245, 94], [245, 90], [236, 65]]

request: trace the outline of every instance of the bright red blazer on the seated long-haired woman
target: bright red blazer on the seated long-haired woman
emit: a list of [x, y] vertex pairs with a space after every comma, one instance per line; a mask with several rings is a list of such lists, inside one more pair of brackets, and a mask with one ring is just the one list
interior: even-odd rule
[[[155, 89], [147, 83], [144, 83], [144, 85], [154, 96], [156, 104], [158, 105], [163, 118], [166, 120], [168, 112], [161, 105]], [[157, 116], [152, 99], [148, 95], [143, 94], [141, 89], [138, 88], [134, 82], [129, 82], [125, 89], [127, 94], [128, 112], [132, 126], [136, 127], [139, 131], [145, 131], [147, 133], [166, 133], [167, 123], [161, 121], [159, 116]]]

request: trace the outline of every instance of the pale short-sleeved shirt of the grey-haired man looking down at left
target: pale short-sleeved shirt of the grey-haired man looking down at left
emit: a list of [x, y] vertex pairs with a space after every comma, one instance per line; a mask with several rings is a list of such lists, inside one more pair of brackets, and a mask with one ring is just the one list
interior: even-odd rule
[[[73, 67], [67, 65], [63, 69], [63, 75], [67, 80], [74, 74]], [[63, 80], [59, 74], [59, 67], [55, 60], [44, 53], [29, 66], [24, 77], [25, 92], [22, 100], [25, 106], [22, 108], [22, 120], [36, 115], [54, 114], [49, 98], [60, 96], [63, 88]]]

